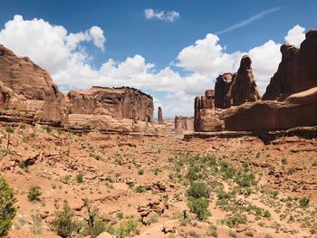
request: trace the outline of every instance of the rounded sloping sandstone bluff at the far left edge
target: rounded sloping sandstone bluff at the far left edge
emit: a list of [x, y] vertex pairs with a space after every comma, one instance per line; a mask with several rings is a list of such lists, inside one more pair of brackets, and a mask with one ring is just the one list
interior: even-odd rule
[[1, 108], [34, 112], [41, 119], [65, 119], [63, 95], [50, 74], [1, 44], [0, 92]]

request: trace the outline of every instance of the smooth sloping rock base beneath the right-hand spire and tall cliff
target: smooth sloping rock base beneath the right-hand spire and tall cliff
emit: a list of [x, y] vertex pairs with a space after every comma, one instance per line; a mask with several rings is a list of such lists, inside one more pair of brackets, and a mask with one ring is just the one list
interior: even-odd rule
[[317, 125], [317, 87], [284, 101], [258, 101], [228, 109], [227, 130], [274, 130]]

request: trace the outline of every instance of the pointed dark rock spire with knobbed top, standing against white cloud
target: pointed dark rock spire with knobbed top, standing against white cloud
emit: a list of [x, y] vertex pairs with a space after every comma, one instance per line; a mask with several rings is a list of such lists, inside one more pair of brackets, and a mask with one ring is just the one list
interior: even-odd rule
[[226, 108], [261, 99], [260, 93], [256, 89], [255, 77], [253, 75], [251, 64], [251, 58], [244, 55], [240, 62], [240, 68], [226, 94]]

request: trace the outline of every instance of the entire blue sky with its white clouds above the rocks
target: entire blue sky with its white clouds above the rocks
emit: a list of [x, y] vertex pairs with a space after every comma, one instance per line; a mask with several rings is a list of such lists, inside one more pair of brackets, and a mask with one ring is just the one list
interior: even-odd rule
[[49, 71], [62, 91], [138, 88], [167, 118], [191, 116], [216, 77], [253, 60], [263, 94], [281, 62], [316, 28], [315, 0], [0, 0], [0, 43]]

